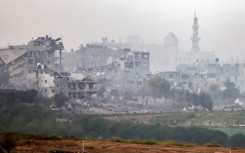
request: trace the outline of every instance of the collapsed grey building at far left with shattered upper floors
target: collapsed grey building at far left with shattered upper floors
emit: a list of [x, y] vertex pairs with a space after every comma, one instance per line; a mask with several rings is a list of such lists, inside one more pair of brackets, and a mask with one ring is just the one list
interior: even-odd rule
[[[49, 36], [38, 37], [27, 45], [1, 49], [1, 61], [5, 63], [4, 66], [9, 72], [8, 88], [35, 89], [47, 97], [63, 92], [71, 97], [73, 88], [68, 88], [69, 85], [74, 82], [85, 83], [87, 80], [86, 76], [74, 79], [69, 73], [63, 72], [62, 51], [64, 46], [60, 40], [60, 38], [53, 39]], [[61, 79], [63, 81], [59, 81]], [[91, 92], [88, 91], [88, 93]]]

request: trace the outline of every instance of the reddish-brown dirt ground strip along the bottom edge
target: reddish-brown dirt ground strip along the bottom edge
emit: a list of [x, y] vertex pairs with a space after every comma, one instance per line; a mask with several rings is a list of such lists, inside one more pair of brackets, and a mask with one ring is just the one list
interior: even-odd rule
[[161, 145], [126, 144], [111, 141], [77, 140], [19, 140], [15, 151], [18, 153], [245, 153], [245, 148], [225, 147], [165, 147]]

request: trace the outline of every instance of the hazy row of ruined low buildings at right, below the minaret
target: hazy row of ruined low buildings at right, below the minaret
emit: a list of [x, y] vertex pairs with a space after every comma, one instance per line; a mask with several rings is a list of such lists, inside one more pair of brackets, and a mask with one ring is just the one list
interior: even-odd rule
[[227, 80], [235, 83], [244, 92], [244, 63], [237, 61], [220, 64], [219, 59], [216, 58], [214, 62], [202, 61], [178, 65], [176, 71], [165, 71], [159, 75], [166, 78], [173, 87], [190, 89], [194, 92], [210, 85], [217, 85], [222, 88]]

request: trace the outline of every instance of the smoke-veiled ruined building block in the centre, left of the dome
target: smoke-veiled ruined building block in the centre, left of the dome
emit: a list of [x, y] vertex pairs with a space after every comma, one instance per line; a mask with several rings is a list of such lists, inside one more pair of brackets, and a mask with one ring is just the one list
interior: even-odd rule
[[92, 74], [98, 80], [109, 80], [107, 89], [137, 93], [145, 83], [145, 74], [150, 72], [150, 53], [146, 51], [87, 44], [81, 45], [76, 54], [79, 57], [77, 70]]

